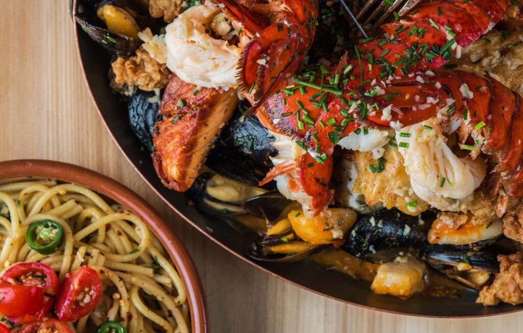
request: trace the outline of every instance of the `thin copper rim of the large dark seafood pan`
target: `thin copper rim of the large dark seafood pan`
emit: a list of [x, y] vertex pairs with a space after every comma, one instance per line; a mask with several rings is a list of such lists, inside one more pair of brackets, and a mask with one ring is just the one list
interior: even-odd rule
[[85, 80], [85, 84], [87, 86], [87, 90], [89, 91], [89, 94], [93, 100], [93, 103], [95, 105], [95, 108], [96, 108], [96, 111], [98, 112], [98, 115], [100, 116], [100, 119], [101, 121], [104, 123], [104, 126], [106, 127], [107, 129], [107, 132], [109, 132], [109, 135], [111, 136], [112, 140], [115, 142], [115, 144], [117, 145], [118, 149], [120, 149], [120, 151], [122, 152], [123, 156], [127, 159], [127, 161], [131, 164], [132, 168], [142, 177], [142, 179], [144, 180], [145, 183], [147, 183], [147, 185], [149, 185], [150, 188], [153, 189], [153, 191], [160, 197], [162, 198], [162, 200], [171, 208], [173, 209], [176, 213], [178, 213], [179, 216], [181, 216], [184, 220], [186, 220], [190, 225], [192, 225], [192, 227], [196, 228], [200, 233], [202, 233], [203, 235], [205, 235], [208, 239], [210, 239], [211, 241], [213, 241], [214, 243], [218, 244], [219, 246], [221, 246], [223, 249], [225, 249], [226, 251], [228, 251], [229, 253], [231, 253], [232, 255], [234, 255], [235, 257], [237, 258], [240, 258], [242, 259], [243, 261], [245, 261], [246, 263], [250, 264], [250, 265], [253, 265], [254, 267], [260, 269], [260, 270], [263, 270], [264, 272], [268, 273], [269, 275], [271, 276], [274, 276], [280, 280], [283, 280], [285, 282], [288, 282], [290, 284], [292, 284], [293, 286], [295, 287], [298, 287], [298, 288], [301, 288], [301, 289], [304, 289], [304, 290], [307, 290], [307, 291], [310, 291], [312, 293], [315, 293], [317, 295], [320, 295], [320, 296], [323, 296], [327, 299], [331, 299], [331, 300], [334, 300], [334, 301], [338, 301], [338, 302], [342, 302], [342, 303], [345, 303], [345, 304], [350, 304], [350, 305], [354, 305], [354, 306], [357, 306], [357, 307], [360, 307], [360, 308], [365, 308], [367, 310], [373, 310], [373, 311], [379, 311], [379, 312], [383, 312], [383, 313], [391, 313], [391, 314], [395, 314], [395, 315], [404, 315], [404, 316], [412, 316], [412, 317], [425, 317], [425, 318], [457, 318], [457, 319], [463, 319], [463, 318], [477, 318], [477, 317], [492, 317], [492, 316], [499, 316], [499, 315], [505, 315], [505, 314], [510, 314], [510, 313], [516, 313], [516, 312], [520, 312], [520, 311], [523, 311], [523, 308], [515, 308], [515, 310], [510, 310], [510, 311], [505, 311], [505, 312], [502, 312], [502, 313], [492, 313], [492, 314], [480, 314], [480, 315], [467, 315], [467, 316], [460, 316], [460, 315], [427, 315], [427, 314], [412, 314], [412, 313], [405, 313], [405, 312], [399, 312], [399, 311], [393, 311], [393, 310], [388, 310], [388, 309], [383, 309], [383, 308], [379, 308], [379, 307], [374, 307], [374, 306], [369, 306], [369, 305], [365, 305], [365, 304], [360, 304], [360, 303], [356, 303], [356, 302], [351, 302], [351, 301], [347, 301], [347, 300], [343, 300], [343, 299], [339, 299], [339, 298], [336, 298], [335, 296], [331, 296], [331, 295], [328, 295], [326, 293], [323, 293], [323, 292], [320, 292], [320, 291], [317, 291], [317, 290], [314, 290], [312, 288], [309, 288], [309, 287], [306, 287], [306, 286], [303, 286], [302, 284], [298, 283], [298, 282], [295, 282], [291, 279], [288, 279], [288, 278], [285, 278], [281, 275], [279, 275], [278, 273], [275, 273], [275, 272], [272, 272], [271, 270], [257, 264], [256, 262], [254, 261], [251, 261], [249, 260], [248, 258], [242, 256], [241, 254], [239, 253], [236, 253], [235, 251], [233, 251], [233, 249], [229, 248], [227, 245], [223, 244], [222, 242], [220, 242], [219, 240], [215, 239], [207, 230], [204, 230], [202, 228], [200, 228], [195, 222], [193, 222], [190, 218], [188, 218], [187, 216], [185, 216], [183, 213], [181, 213], [172, 203], [170, 203], [169, 200], [167, 200], [159, 191], [158, 189], [153, 186], [153, 184], [147, 179], [147, 177], [145, 177], [145, 175], [138, 169], [138, 167], [133, 163], [133, 161], [131, 160], [131, 158], [128, 156], [128, 154], [126, 153], [126, 151], [124, 151], [124, 149], [122, 148], [122, 146], [120, 145], [119, 141], [116, 139], [115, 137], [115, 134], [112, 133], [109, 125], [107, 124], [107, 121], [103, 115], [103, 113], [101, 112], [99, 106], [98, 106], [98, 103], [94, 97], [94, 94], [93, 94], [93, 91], [91, 89], [91, 86], [89, 85], [89, 81], [87, 79], [87, 73], [86, 73], [86, 70], [85, 70], [85, 67], [84, 67], [84, 63], [83, 63], [83, 60], [82, 60], [82, 54], [81, 54], [81, 49], [80, 49], [80, 45], [79, 45], [79, 40], [78, 40], [78, 24], [76, 23], [74, 17], [75, 17], [75, 14], [76, 14], [76, 3], [77, 3], [77, 0], [71, 0], [71, 8], [70, 8], [70, 11], [71, 11], [71, 15], [72, 15], [72, 20], [73, 20], [73, 26], [74, 26], [74, 33], [75, 33], [75, 42], [76, 42], [76, 51], [77, 51], [77, 55], [78, 55], [78, 62], [80, 64], [80, 67], [82, 69], [82, 73], [84, 75], [84, 80]]

